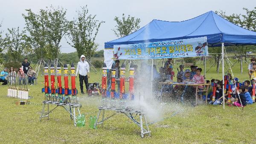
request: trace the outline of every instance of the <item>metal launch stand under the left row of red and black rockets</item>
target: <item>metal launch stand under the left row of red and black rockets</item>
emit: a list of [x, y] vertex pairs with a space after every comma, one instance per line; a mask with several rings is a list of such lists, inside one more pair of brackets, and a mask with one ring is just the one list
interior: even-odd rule
[[[49, 104], [55, 105], [55, 107], [52, 110], [49, 110]], [[44, 110], [46, 105], [47, 105], [47, 111]], [[55, 110], [55, 108], [57, 108], [57, 107], [63, 107], [70, 114], [70, 118], [72, 120], [74, 120], [74, 125], [76, 127], [76, 119], [77, 119], [76, 108], [77, 108], [77, 112], [79, 113], [79, 116], [81, 116], [81, 113], [79, 110], [79, 108], [81, 108], [81, 104], [69, 104], [69, 103], [63, 104], [63, 103], [57, 103], [57, 102], [55, 103], [55, 102], [50, 102], [50, 101], [43, 102], [43, 108], [42, 108], [42, 112], [41, 112], [39, 121], [41, 121], [41, 119], [43, 117], [47, 117], [49, 119], [49, 114], [53, 110]]]

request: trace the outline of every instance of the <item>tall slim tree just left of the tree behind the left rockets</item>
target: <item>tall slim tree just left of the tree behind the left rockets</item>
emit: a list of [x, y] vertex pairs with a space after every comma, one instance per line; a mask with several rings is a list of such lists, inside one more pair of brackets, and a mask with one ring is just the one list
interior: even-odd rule
[[29, 32], [29, 36], [26, 37], [26, 42], [30, 43], [30, 48], [27, 48], [27, 52], [36, 54], [38, 59], [43, 59], [46, 54], [45, 45], [46, 30], [44, 24], [44, 13], [41, 10], [39, 14], [35, 14], [31, 9], [26, 9], [27, 14], [22, 14], [25, 19], [26, 30]]

